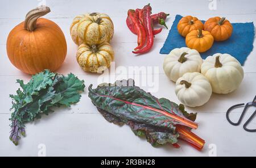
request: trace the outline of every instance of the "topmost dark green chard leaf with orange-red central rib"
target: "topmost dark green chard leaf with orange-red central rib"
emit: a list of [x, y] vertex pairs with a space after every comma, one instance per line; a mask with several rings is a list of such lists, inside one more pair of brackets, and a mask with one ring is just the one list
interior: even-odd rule
[[[118, 83], [134, 83], [118, 81]], [[89, 86], [89, 98], [93, 104], [109, 113], [130, 121], [156, 125], [175, 132], [175, 125], [197, 127], [187, 119], [179, 106], [170, 100], [155, 98], [137, 86], [100, 85]]]

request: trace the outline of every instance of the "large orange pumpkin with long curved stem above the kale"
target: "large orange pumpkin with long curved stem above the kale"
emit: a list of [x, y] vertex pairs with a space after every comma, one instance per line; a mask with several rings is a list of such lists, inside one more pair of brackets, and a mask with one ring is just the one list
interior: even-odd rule
[[9, 33], [7, 55], [24, 73], [36, 74], [44, 69], [53, 72], [65, 59], [67, 43], [60, 27], [51, 20], [40, 18], [50, 11], [46, 6], [31, 10], [25, 21]]

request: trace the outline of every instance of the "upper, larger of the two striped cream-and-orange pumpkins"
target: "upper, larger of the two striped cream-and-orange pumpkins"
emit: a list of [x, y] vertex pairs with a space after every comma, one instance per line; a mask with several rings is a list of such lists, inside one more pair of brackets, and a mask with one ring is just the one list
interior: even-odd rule
[[70, 33], [77, 45], [109, 43], [114, 34], [114, 25], [108, 15], [94, 12], [76, 16]]

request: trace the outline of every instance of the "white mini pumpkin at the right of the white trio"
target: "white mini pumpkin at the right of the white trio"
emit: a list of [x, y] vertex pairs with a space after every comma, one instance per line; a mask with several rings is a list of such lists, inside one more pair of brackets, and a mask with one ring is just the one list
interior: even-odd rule
[[218, 94], [236, 90], [243, 79], [240, 62], [230, 54], [216, 53], [207, 57], [201, 65], [201, 73], [210, 81], [213, 92]]

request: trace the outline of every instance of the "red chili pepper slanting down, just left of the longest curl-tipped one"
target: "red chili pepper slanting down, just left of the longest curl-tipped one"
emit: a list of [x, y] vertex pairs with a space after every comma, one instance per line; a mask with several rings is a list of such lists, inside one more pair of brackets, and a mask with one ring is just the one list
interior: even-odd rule
[[144, 44], [146, 43], [146, 32], [144, 30], [144, 27], [142, 26], [141, 22], [139, 22], [138, 15], [136, 14], [135, 10], [129, 10], [128, 15], [133, 23], [134, 30], [136, 31], [138, 35], [138, 47], [136, 49], [141, 49]]

